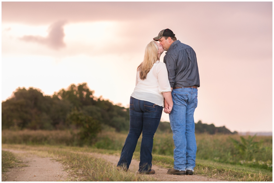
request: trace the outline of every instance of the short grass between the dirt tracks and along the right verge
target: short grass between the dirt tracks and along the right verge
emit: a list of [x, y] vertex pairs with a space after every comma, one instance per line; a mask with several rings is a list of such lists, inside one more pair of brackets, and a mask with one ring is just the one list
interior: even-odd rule
[[[129, 181], [142, 181], [147, 177], [142, 177], [139, 174], [132, 172], [117, 171], [115, 166], [95, 160], [93, 157], [85, 155], [83, 153], [97, 152], [102, 154], [120, 155], [120, 151], [96, 149], [90, 147], [68, 147], [68, 146], [50, 146], [50, 145], [10, 145], [2, 144], [4, 148], [20, 149], [24, 151], [30, 151], [40, 156], [52, 157], [61, 161], [66, 166], [66, 171], [71, 171], [72, 181], [114, 181], [114, 180], [129, 180]], [[133, 159], [139, 160], [140, 154], [135, 151]], [[93, 162], [93, 163], [92, 163]], [[174, 159], [172, 156], [153, 154], [153, 164], [163, 168], [172, 168]], [[93, 165], [91, 165], [93, 164]], [[95, 175], [91, 171], [90, 167], [93, 166], [93, 170], [104, 170], [107, 172], [107, 177], [102, 175]], [[79, 173], [81, 172], [81, 173]], [[102, 172], [102, 171], [100, 171]], [[117, 175], [121, 173], [121, 175]], [[196, 175], [203, 175], [209, 178], [217, 178], [227, 181], [272, 181], [272, 172], [260, 169], [244, 167], [241, 165], [225, 164], [220, 162], [214, 162], [209, 160], [196, 159], [195, 172]], [[125, 177], [127, 174], [129, 177]], [[136, 179], [136, 176], [140, 176]], [[108, 179], [107, 179], [108, 178]], [[154, 181], [156, 179], [153, 179]], [[146, 180], [146, 181], [153, 181]]]

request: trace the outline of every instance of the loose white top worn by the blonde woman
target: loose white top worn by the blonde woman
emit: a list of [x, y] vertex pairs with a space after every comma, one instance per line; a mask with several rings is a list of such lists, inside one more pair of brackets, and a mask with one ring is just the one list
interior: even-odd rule
[[163, 92], [170, 91], [166, 64], [158, 60], [147, 73], [145, 80], [140, 79], [139, 71], [137, 71], [136, 86], [131, 97], [163, 106]]

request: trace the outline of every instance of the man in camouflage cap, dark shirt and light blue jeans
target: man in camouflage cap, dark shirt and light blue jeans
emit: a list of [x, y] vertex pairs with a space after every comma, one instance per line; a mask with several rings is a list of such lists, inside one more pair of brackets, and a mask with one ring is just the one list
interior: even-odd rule
[[194, 111], [198, 104], [198, 87], [200, 78], [195, 51], [176, 39], [170, 29], [162, 30], [153, 38], [159, 41], [166, 52], [164, 63], [172, 91], [173, 109], [169, 114], [170, 126], [174, 140], [174, 168], [167, 174], [193, 175], [196, 159], [196, 139]]

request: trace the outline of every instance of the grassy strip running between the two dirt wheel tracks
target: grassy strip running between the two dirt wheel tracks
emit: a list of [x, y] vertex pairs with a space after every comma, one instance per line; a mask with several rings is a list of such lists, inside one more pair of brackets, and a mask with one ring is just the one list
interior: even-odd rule
[[157, 181], [155, 178], [134, 172], [118, 171], [116, 166], [83, 152], [91, 152], [82, 147], [58, 147], [49, 145], [6, 145], [2, 147], [20, 149], [41, 157], [51, 157], [60, 161], [71, 178], [68, 181]]

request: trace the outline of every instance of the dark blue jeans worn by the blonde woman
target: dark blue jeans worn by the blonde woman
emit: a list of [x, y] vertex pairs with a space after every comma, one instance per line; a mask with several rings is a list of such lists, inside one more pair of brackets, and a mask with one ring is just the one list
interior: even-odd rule
[[117, 166], [129, 168], [137, 141], [142, 133], [139, 171], [151, 171], [153, 137], [160, 123], [162, 111], [161, 106], [130, 97], [129, 133]]

